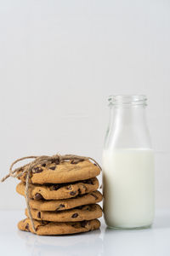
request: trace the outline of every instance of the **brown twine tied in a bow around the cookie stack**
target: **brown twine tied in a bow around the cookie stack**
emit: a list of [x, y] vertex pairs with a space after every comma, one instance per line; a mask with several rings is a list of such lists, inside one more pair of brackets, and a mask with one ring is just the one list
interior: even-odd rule
[[[21, 160], [27, 160], [27, 159], [34, 159], [30, 163], [26, 164], [25, 166], [20, 166], [18, 168], [15, 168], [13, 170], [13, 166], [20, 162]], [[65, 155], [60, 155], [60, 154], [54, 154], [53, 156], [48, 156], [48, 155], [41, 155], [41, 156], [35, 156], [35, 155], [30, 155], [30, 156], [25, 156], [20, 159], [14, 160], [14, 162], [11, 164], [9, 167], [9, 172], [8, 174], [1, 179], [1, 182], [3, 183], [8, 177], [20, 177], [23, 176], [26, 173], [26, 190], [25, 190], [25, 195], [26, 195], [26, 207], [28, 209], [28, 215], [31, 220], [31, 226], [32, 229], [35, 233], [37, 233], [37, 230], [35, 228], [33, 218], [31, 215], [31, 208], [30, 208], [30, 197], [29, 197], [29, 177], [31, 176], [31, 172], [33, 168], [37, 165], [40, 164], [47, 164], [48, 162], [53, 162], [53, 161], [58, 161], [59, 163], [67, 161], [67, 160], [92, 160], [94, 163], [99, 166], [98, 162], [94, 160], [91, 157], [86, 157], [86, 156], [80, 156], [76, 154], [65, 154]], [[101, 170], [101, 167], [99, 166], [99, 169]]]

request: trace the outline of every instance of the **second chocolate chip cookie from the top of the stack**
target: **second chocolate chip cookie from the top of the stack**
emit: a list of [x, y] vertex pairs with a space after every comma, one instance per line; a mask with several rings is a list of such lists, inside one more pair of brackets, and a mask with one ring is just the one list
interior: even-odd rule
[[[51, 185], [38, 185], [29, 184], [29, 196], [36, 200], [58, 200], [75, 197], [77, 195], [86, 194], [95, 191], [99, 188], [99, 181], [97, 177], [84, 180], [77, 183], [70, 184], [51, 184]], [[16, 187], [16, 191], [20, 195], [25, 195], [26, 185], [25, 183], [19, 183]]]

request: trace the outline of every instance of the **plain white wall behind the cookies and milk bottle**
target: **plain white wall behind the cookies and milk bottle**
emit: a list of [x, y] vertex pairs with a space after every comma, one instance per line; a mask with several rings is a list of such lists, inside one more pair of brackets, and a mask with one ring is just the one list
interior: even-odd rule
[[[170, 2], [0, 0], [3, 177], [29, 154], [101, 163], [111, 94], [145, 94], [156, 150], [156, 208], [170, 208]], [[0, 209], [22, 209], [17, 181]]]

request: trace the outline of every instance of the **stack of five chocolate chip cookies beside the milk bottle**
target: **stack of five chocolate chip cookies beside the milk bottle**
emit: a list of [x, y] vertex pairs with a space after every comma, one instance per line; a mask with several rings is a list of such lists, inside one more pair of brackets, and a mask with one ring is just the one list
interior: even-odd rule
[[[102, 201], [97, 190], [99, 166], [90, 160], [51, 160], [32, 169], [28, 194], [31, 216], [37, 235], [62, 235], [99, 229], [97, 218]], [[16, 191], [26, 195], [26, 173], [20, 176]], [[18, 224], [20, 230], [35, 233], [27, 218]]]

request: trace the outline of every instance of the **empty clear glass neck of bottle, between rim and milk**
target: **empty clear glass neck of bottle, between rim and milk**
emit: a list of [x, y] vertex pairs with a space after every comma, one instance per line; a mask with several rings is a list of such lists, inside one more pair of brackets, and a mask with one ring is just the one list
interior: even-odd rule
[[111, 107], [106, 148], [151, 148], [145, 108]]

